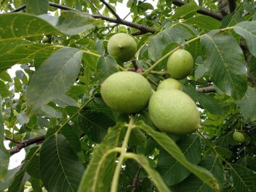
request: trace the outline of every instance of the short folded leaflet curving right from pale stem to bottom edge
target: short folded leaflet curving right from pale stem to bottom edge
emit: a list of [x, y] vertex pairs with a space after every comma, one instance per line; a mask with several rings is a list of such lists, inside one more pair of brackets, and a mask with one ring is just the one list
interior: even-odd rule
[[170, 189], [168, 189], [160, 174], [150, 167], [148, 159], [143, 156], [143, 154], [128, 153], [127, 157], [136, 160], [143, 167], [143, 169], [145, 169], [159, 192], [170, 192]]

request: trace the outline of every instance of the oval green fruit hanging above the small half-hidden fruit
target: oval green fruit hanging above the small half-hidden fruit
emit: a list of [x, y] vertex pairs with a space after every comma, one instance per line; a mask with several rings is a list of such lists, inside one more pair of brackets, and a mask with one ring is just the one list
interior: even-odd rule
[[173, 52], [167, 61], [167, 70], [174, 79], [184, 79], [194, 68], [194, 60], [190, 52], [179, 49]]

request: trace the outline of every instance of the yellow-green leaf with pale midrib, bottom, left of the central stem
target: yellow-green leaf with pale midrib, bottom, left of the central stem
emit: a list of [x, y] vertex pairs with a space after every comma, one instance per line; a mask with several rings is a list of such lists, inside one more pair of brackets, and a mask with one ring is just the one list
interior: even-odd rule
[[92, 159], [82, 177], [78, 192], [108, 192], [112, 182], [116, 153], [111, 152], [119, 143], [124, 124], [117, 124], [108, 129], [101, 144], [94, 148]]

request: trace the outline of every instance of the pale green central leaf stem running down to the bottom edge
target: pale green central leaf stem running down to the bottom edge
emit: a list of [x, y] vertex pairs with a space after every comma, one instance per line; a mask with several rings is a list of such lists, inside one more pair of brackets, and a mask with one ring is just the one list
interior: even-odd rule
[[120, 175], [120, 172], [122, 169], [123, 160], [125, 160], [125, 154], [127, 153], [126, 148], [127, 148], [127, 144], [128, 144], [130, 135], [131, 135], [131, 130], [134, 128], [133, 124], [134, 124], [134, 117], [131, 116], [130, 122], [127, 126], [125, 139], [123, 140], [123, 144], [121, 146], [121, 154], [119, 156], [119, 162], [115, 168], [115, 173], [113, 176], [110, 192], [117, 192], [118, 183], [119, 183], [119, 175]]

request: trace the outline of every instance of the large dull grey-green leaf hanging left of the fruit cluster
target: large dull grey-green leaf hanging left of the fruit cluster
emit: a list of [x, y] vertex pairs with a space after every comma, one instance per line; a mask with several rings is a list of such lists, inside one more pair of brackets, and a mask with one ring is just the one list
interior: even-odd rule
[[71, 87], [79, 73], [81, 60], [81, 50], [63, 48], [41, 64], [26, 93], [29, 115], [36, 113], [53, 99], [61, 97]]

